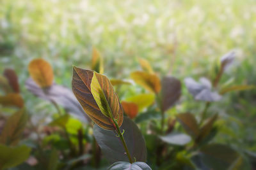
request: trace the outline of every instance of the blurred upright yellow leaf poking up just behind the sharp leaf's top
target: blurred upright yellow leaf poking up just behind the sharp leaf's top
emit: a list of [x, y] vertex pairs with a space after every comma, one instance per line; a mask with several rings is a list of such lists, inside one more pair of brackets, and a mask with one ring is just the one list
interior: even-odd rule
[[103, 58], [95, 47], [92, 49], [92, 70], [100, 74], [104, 73]]

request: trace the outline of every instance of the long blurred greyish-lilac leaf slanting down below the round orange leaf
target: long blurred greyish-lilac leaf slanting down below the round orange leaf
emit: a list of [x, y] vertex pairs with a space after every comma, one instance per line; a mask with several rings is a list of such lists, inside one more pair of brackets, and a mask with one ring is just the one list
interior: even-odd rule
[[51, 87], [42, 90], [31, 78], [26, 80], [26, 89], [32, 94], [46, 101], [54, 101], [82, 122], [90, 122], [90, 118], [84, 113], [83, 108], [77, 101], [70, 89], [61, 85], [53, 84]]

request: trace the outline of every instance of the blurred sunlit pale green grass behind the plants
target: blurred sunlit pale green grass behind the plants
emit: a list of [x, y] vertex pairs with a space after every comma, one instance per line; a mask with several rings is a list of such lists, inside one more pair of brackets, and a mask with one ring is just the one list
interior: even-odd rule
[[[4, 67], [17, 71], [31, 108], [40, 100], [35, 101], [24, 89], [29, 61], [47, 59], [54, 67], [56, 82], [70, 87], [72, 64], [90, 68], [92, 46], [104, 56], [105, 72], [112, 78], [129, 78], [131, 71], [140, 68], [137, 57], [148, 59], [161, 74], [180, 79], [210, 77], [221, 55], [236, 50], [235, 66], [222, 82], [234, 77], [236, 84], [256, 84], [254, 0], [0, 3], [0, 71]], [[184, 95], [186, 109], [195, 109], [198, 104], [186, 90]], [[233, 143], [256, 151], [255, 97], [255, 90], [232, 93], [212, 108], [227, 117], [224, 126], [237, 134], [223, 134], [219, 141], [235, 140]]]

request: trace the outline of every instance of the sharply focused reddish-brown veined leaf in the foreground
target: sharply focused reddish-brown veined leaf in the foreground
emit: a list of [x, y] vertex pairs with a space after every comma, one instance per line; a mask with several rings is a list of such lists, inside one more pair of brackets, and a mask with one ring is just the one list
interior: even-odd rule
[[[100, 108], [92, 95], [92, 92], [91, 92], [92, 78], [93, 78], [93, 71], [81, 69], [79, 67], [74, 66], [73, 78], [72, 78], [72, 90], [77, 100], [79, 101], [84, 111], [86, 112], [86, 114], [90, 118], [92, 118], [95, 124], [99, 125], [104, 129], [115, 130], [115, 127], [113, 126], [113, 122], [111, 118], [107, 117], [100, 111]], [[97, 90], [101, 89], [100, 90], [101, 95], [104, 95], [106, 97], [106, 100], [108, 99], [107, 100], [108, 104], [113, 109], [111, 110], [113, 111], [112, 112], [113, 118], [116, 118], [118, 120], [117, 121], [118, 125], [122, 125], [122, 120], [123, 120], [122, 105], [119, 103], [118, 97], [116, 96], [110, 81], [108, 80], [108, 78], [100, 74], [98, 74], [98, 76], [95, 77], [94, 79], [95, 79], [94, 83], [96, 85], [95, 88], [97, 88]], [[99, 94], [96, 94], [97, 92], [96, 89], [94, 89], [94, 92], [95, 92], [95, 96], [103, 97], [103, 96], [99, 96]], [[99, 101], [99, 98], [97, 98], [97, 100], [100, 104], [101, 101]], [[118, 103], [119, 103], [119, 106], [115, 105]], [[104, 103], [104, 104], [107, 104], [107, 103]], [[101, 107], [103, 108], [103, 105]]]

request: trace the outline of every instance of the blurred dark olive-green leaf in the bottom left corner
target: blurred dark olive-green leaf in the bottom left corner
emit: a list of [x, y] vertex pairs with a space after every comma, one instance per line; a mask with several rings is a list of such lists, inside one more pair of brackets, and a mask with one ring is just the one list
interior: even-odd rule
[[0, 144], [0, 169], [17, 166], [28, 159], [31, 148], [28, 146], [5, 146]]

